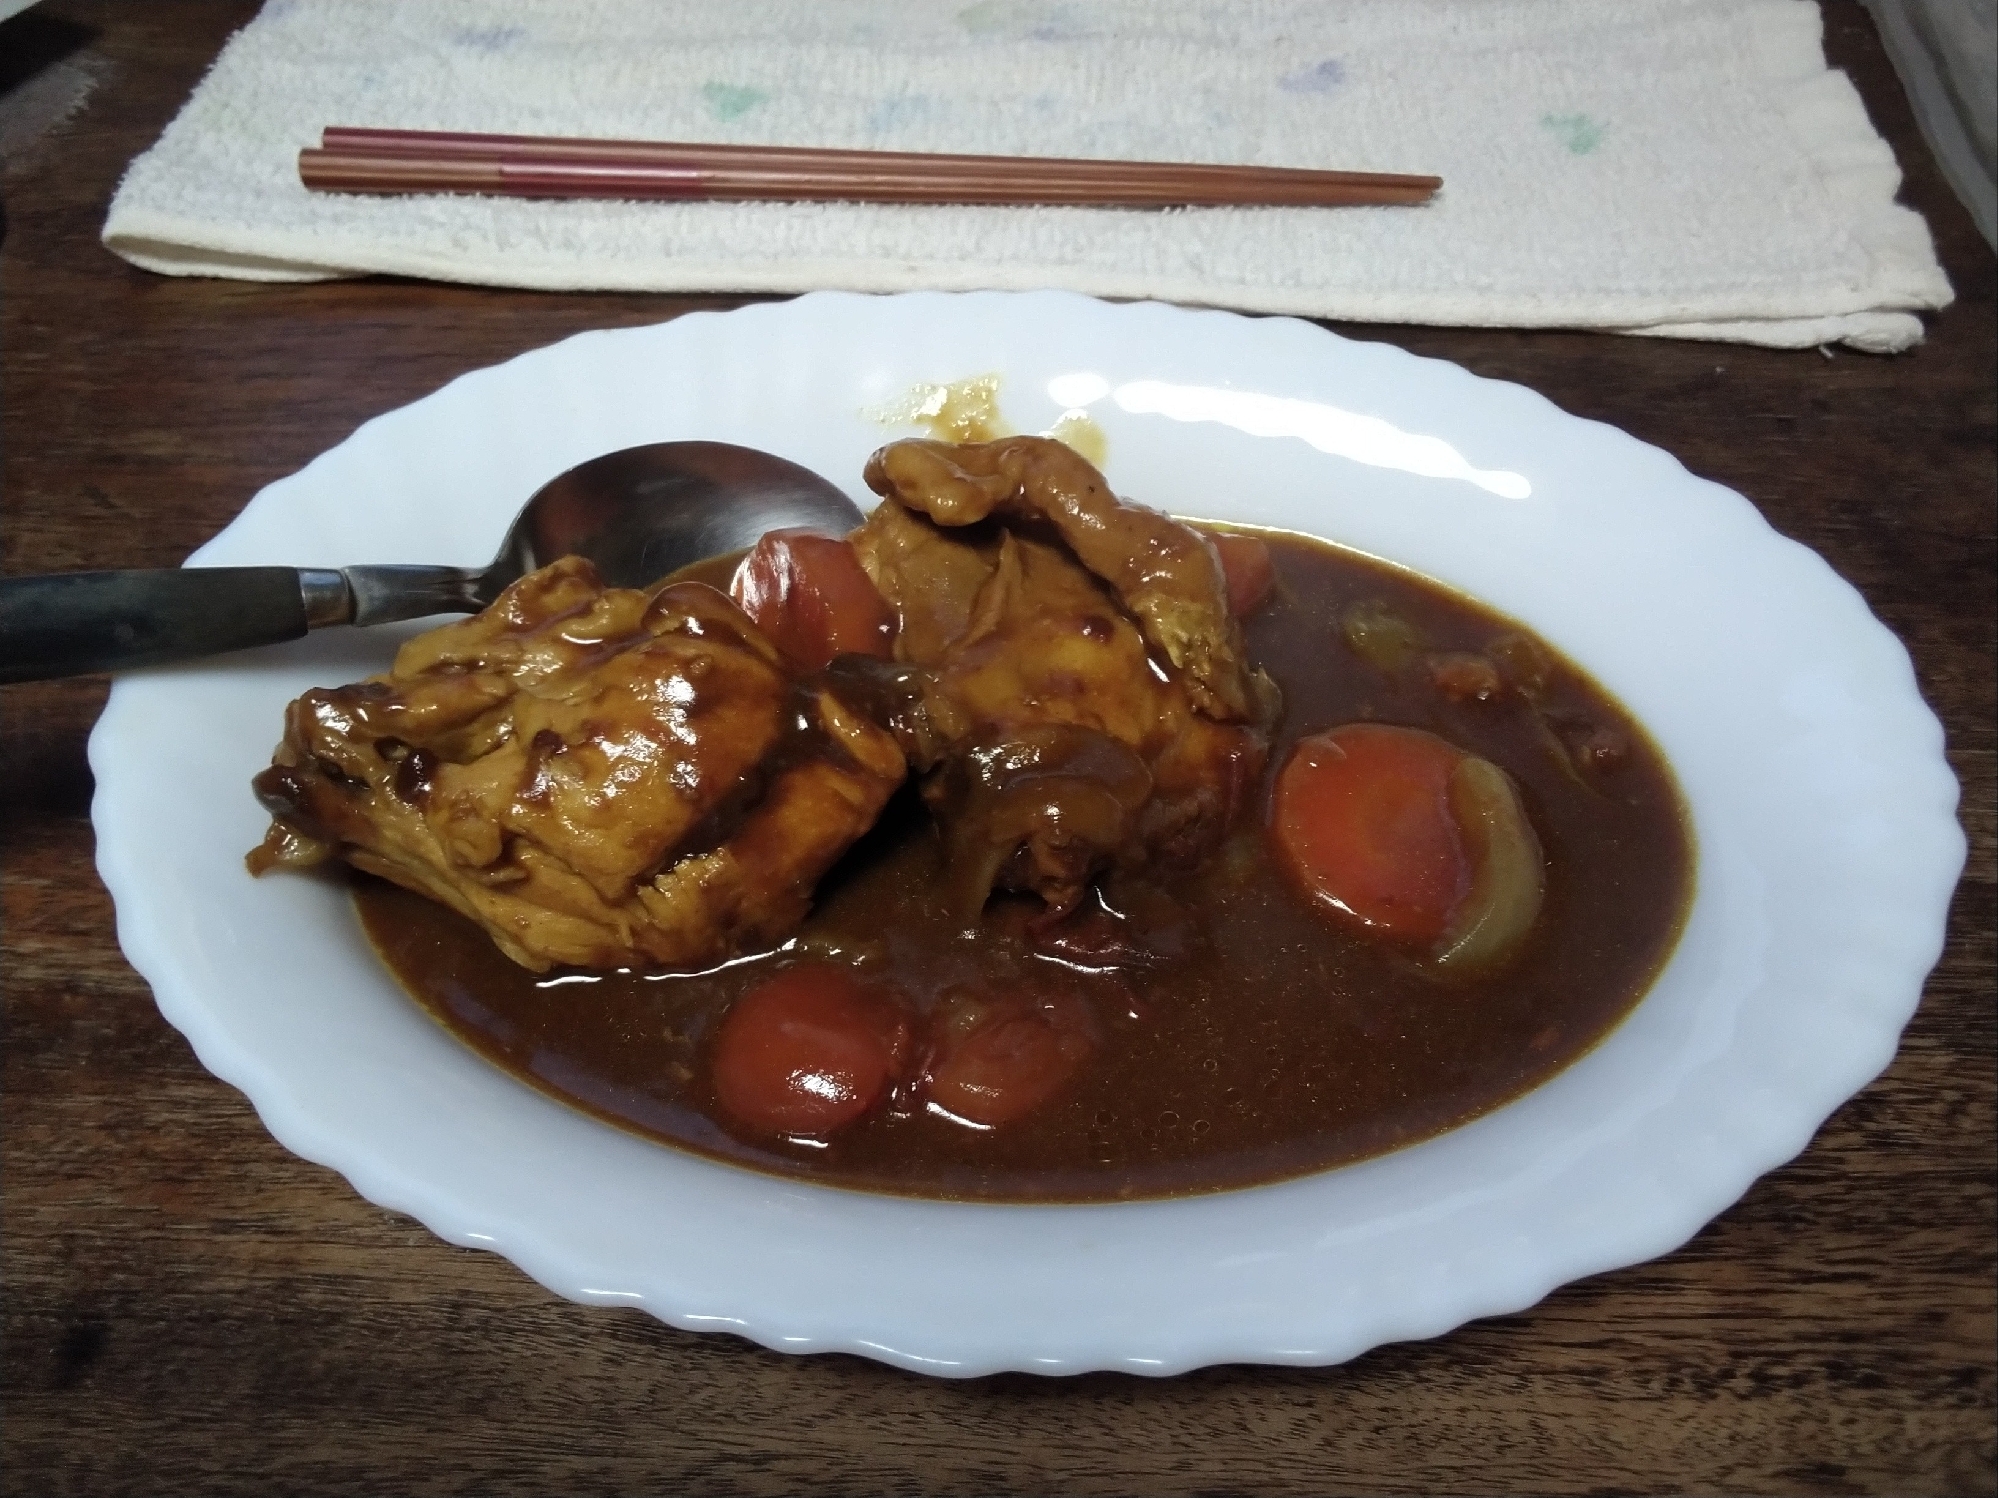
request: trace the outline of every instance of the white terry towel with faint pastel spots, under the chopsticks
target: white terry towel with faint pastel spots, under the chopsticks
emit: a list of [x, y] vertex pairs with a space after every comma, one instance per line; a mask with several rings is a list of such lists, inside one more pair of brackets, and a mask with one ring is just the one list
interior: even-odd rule
[[[1433, 172], [1425, 208], [316, 196], [328, 124]], [[1808, 0], [272, 0], [112, 202], [178, 276], [1031, 288], [1900, 350], [1950, 300]]]

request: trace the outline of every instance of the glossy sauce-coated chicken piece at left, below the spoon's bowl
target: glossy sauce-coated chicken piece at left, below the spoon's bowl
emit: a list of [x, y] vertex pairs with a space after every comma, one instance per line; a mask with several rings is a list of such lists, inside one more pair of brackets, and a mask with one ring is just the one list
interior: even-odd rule
[[723, 593], [567, 557], [294, 701], [250, 867], [346, 857], [535, 971], [691, 967], [785, 937], [905, 773]]

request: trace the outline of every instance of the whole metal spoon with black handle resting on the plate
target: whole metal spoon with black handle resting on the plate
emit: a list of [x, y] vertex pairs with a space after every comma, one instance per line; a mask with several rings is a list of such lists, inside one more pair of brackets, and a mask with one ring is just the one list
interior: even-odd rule
[[476, 567], [160, 567], [0, 577], [0, 681], [190, 661], [324, 625], [476, 613], [555, 557], [643, 587], [799, 525], [845, 535], [859, 507], [807, 467], [725, 441], [655, 441], [543, 483]]

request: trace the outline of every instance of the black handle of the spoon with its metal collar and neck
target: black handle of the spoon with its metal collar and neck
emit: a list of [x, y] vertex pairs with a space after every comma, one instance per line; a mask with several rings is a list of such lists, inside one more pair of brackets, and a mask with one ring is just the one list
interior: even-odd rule
[[332, 623], [480, 607], [464, 567], [160, 567], [0, 577], [0, 681], [192, 661]]

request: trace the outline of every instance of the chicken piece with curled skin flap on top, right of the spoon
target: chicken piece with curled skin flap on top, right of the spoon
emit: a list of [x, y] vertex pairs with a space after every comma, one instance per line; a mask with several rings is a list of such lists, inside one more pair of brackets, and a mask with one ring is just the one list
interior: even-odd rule
[[899, 441], [867, 481], [853, 549], [919, 699], [877, 717], [929, 771], [959, 909], [997, 887], [1061, 913], [1105, 867], [1209, 851], [1277, 711], [1209, 541], [1045, 437]]

